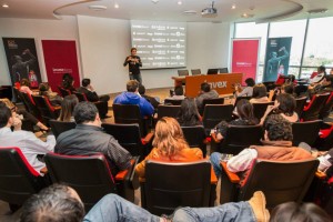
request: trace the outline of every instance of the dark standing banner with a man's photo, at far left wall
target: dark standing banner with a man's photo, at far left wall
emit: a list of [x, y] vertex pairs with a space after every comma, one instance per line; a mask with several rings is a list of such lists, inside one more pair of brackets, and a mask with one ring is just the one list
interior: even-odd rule
[[28, 79], [31, 88], [38, 88], [41, 77], [34, 39], [2, 38], [2, 41], [11, 83], [14, 84], [22, 79]]

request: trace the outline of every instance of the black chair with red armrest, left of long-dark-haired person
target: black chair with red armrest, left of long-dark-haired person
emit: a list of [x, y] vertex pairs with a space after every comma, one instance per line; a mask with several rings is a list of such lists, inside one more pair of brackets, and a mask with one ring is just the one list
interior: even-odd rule
[[41, 118], [43, 119], [43, 122], [50, 125], [49, 120], [58, 119], [61, 107], [53, 107], [50, 103], [49, 99], [44, 95], [32, 95], [32, 99], [41, 113]]

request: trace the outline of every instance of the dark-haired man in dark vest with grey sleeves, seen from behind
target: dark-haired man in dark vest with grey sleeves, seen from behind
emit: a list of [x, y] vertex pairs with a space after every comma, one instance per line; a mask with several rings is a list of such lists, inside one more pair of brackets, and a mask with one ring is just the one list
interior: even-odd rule
[[131, 165], [131, 154], [112, 135], [103, 132], [98, 109], [93, 103], [80, 102], [74, 108], [73, 115], [77, 127], [58, 137], [54, 148], [57, 153], [68, 155], [102, 153], [111, 163], [113, 175]]

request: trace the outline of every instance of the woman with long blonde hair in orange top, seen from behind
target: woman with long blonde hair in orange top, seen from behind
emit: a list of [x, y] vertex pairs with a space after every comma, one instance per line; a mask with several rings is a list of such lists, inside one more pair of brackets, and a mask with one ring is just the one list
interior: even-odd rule
[[135, 168], [140, 178], [144, 178], [147, 160], [192, 162], [203, 159], [199, 148], [189, 147], [180, 124], [173, 118], [165, 117], [159, 120], [155, 127], [153, 147], [150, 154]]

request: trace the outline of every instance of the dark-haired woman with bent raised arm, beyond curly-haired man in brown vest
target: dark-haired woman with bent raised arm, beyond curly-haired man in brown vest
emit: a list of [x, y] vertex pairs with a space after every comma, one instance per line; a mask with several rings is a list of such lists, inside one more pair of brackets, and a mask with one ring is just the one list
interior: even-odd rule
[[279, 94], [275, 99], [274, 105], [269, 105], [263, 118], [261, 119], [261, 124], [264, 123], [265, 119], [270, 114], [280, 114], [282, 118], [289, 122], [299, 122], [300, 117], [295, 112], [296, 101], [291, 94]]

